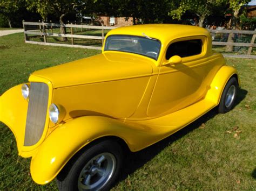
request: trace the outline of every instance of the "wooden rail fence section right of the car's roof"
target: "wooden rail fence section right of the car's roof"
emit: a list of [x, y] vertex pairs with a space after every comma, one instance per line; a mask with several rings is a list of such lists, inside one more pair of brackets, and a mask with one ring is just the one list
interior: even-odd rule
[[[256, 47], [256, 44], [254, 44], [255, 37], [256, 37], [256, 30], [254, 31], [242, 31], [242, 30], [209, 30], [209, 32], [212, 34], [212, 37], [215, 36], [215, 34], [223, 33], [223, 34], [251, 34], [251, 41], [250, 43], [234, 43], [234, 42], [223, 42], [223, 41], [212, 41], [212, 45], [223, 45], [223, 46], [240, 46], [240, 47], [249, 47], [247, 50], [247, 53], [244, 55], [238, 55], [238, 54], [226, 54], [223, 53], [225, 57], [233, 57], [233, 58], [250, 58], [250, 59], [256, 59], [256, 55], [251, 55], [253, 47]], [[233, 40], [232, 40], [233, 41]]]

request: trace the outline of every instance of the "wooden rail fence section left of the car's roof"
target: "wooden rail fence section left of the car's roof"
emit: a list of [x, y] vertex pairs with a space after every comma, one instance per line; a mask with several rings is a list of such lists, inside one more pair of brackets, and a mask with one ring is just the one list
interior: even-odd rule
[[[38, 26], [38, 29], [31, 30], [32, 27], [28, 26]], [[53, 33], [53, 27], [60, 27], [63, 26], [65, 28], [70, 29], [71, 34], [59, 34], [59, 33]], [[104, 30], [112, 30], [116, 29], [116, 27], [113, 26], [91, 26], [91, 25], [78, 25], [78, 24], [56, 24], [56, 23], [44, 23], [44, 22], [25, 22], [23, 20], [23, 28], [24, 28], [24, 37], [25, 37], [25, 43], [30, 44], [39, 44], [39, 45], [50, 45], [50, 46], [66, 46], [66, 47], [79, 47], [79, 48], [90, 48], [90, 49], [102, 49], [100, 46], [84, 46], [84, 45], [74, 45], [74, 38], [80, 38], [80, 39], [96, 39], [96, 40], [102, 40], [102, 44], [104, 41]], [[88, 35], [81, 35], [81, 34], [74, 34], [74, 28], [78, 29], [97, 29], [102, 30], [102, 36], [88, 36]], [[30, 29], [30, 30], [29, 30]], [[51, 32], [46, 32], [46, 30], [51, 30]], [[43, 36], [44, 41], [38, 42], [38, 41], [32, 41], [28, 37], [28, 34], [33, 34], [35, 36]], [[60, 43], [49, 43], [47, 41], [47, 37], [66, 37], [71, 38], [71, 44], [60, 44]]]

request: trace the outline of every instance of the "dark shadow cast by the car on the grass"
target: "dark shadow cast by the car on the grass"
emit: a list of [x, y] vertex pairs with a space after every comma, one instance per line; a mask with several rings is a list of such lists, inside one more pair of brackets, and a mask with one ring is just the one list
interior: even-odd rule
[[[236, 107], [247, 95], [247, 90], [239, 89], [237, 99], [235, 101], [234, 107]], [[207, 112], [205, 115], [198, 118], [193, 123], [187, 125], [185, 128], [179, 130], [173, 135], [161, 140], [160, 142], [153, 144], [147, 148], [144, 148], [142, 151], [138, 152], [126, 152], [124, 167], [122, 173], [120, 173], [119, 180], [123, 181], [127, 178], [129, 174], [134, 173], [138, 168], [142, 167], [146, 162], [153, 159], [158, 153], [164, 150], [165, 147], [172, 145], [173, 142], [187, 135], [187, 133], [192, 132], [194, 129], [199, 128], [202, 123], [206, 123], [208, 120], [213, 118], [218, 114], [218, 107], [213, 108], [211, 111]], [[253, 173], [255, 177], [255, 169]], [[117, 182], [117, 183], [118, 183]]]

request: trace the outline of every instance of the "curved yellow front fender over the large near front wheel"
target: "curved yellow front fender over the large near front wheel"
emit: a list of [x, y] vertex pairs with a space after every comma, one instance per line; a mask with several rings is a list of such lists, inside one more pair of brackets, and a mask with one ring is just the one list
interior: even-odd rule
[[154, 136], [148, 134], [143, 126], [135, 128], [107, 117], [72, 119], [54, 130], [38, 148], [30, 165], [32, 179], [41, 185], [50, 182], [80, 148], [97, 138], [116, 136], [122, 138], [131, 151], [136, 151], [152, 143]]

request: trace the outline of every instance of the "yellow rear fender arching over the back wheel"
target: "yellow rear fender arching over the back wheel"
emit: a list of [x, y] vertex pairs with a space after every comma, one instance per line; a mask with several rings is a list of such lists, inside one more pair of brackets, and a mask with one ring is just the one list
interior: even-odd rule
[[[207, 91], [206, 99], [214, 102], [216, 105], [219, 104], [221, 95], [226, 86], [226, 83], [233, 75], [237, 75], [237, 70], [231, 66], [223, 66], [221, 67], [217, 74], [215, 74], [214, 79], [211, 83], [210, 89]], [[240, 80], [238, 77], [238, 83], [240, 86]]]

